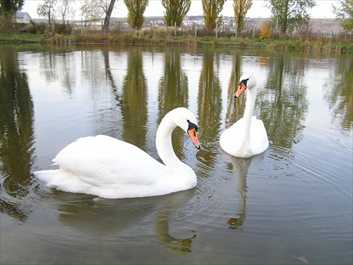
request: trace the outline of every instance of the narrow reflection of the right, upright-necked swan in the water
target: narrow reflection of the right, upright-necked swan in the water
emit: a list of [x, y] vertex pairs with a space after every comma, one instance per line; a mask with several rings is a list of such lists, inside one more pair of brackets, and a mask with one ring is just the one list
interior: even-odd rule
[[222, 151], [222, 149], [221, 152], [223, 155], [225, 155], [225, 157], [229, 158], [232, 163], [235, 175], [237, 175], [237, 189], [240, 195], [237, 213], [235, 214], [236, 217], [228, 218], [227, 224], [229, 225], [229, 229], [239, 229], [242, 225], [244, 225], [246, 218], [246, 199], [248, 192], [246, 177], [248, 176], [249, 168], [260, 165], [263, 161], [263, 158], [265, 157], [266, 152], [260, 153], [258, 155], [253, 155], [251, 158], [237, 158], [233, 155], [229, 155], [225, 151]]

